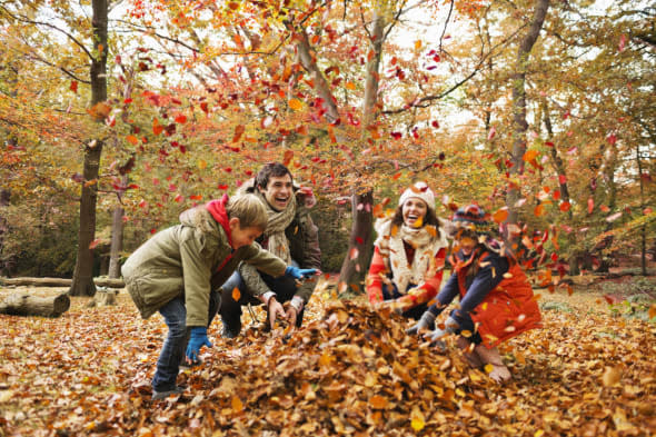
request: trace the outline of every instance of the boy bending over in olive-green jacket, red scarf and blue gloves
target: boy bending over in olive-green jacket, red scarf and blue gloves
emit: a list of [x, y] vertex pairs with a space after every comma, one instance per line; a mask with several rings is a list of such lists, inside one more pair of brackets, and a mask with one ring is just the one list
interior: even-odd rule
[[301, 279], [316, 274], [315, 269], [287, 266], [262, 250], [255, 239], [266, 227], [267, 211], [256, 196], [223, 196], [182, 212], [180, 225], [156, 234], [121, 268], [141, 317], [159, 311], [169, 328], [152, 378], [152, 399], [183, 391], [176, 385], [183, 355], [195, 362], [202, 346], [212, 346], [207, 327], [220, 296], [211, 292], [211, 284], [226, 281], [240, 261], [274, 277]]

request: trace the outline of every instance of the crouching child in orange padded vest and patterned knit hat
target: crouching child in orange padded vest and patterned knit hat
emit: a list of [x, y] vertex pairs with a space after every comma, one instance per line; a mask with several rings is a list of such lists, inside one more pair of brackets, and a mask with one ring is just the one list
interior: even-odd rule
[[526, 275], [513, 256], [491, 238], [493, 224], [477, 205], [460, 208], [454, 216], [458, 251], [451, 258], [454, 271], [419, 322], [408, 329], [433, 329], [435, 318], [456, 296], [454, 309], [444, 329], [428, 334], [441, 342], [447, 334], [458, 334], [458, 346], [475, 367], [491, 365], [490, 378], [498, 383], [510, 378], [497, 345], [527, 329], [540, 326], [540, 312]]

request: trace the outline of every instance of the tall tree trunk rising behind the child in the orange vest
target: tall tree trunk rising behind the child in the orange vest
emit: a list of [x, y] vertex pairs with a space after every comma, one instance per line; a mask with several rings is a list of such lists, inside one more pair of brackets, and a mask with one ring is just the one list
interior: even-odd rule
[[[526, 131], [528, 130], [528, 122], [526, 121], [526, 71], [530, 50], [539, 37], [540, 29], [547, 16], [549, 8], [549, 0], [536, 0], [535, 12], [530, 22], [528, 33], [519, 43], [517, 51], [517, 62], [515, 66], [515, 75], [513, 77], [513, 125], [514, 125], [514, 141], [513, 141], [513, 167], [510, 175], [521, 175], [524, 172], [524, 153], [526, 152]], [[506, 222], [517, 224], [517, 208], [515, 203], [519, 200], [519, 186], [511, 183], [506, 196], [506, 206], [508, 207], [508, 218]], [[508, 236], [507, 236], [508, 237]]]

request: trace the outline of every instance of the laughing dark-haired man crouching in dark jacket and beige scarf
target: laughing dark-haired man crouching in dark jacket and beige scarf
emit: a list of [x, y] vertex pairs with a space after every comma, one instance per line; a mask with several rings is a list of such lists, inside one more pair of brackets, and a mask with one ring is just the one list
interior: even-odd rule
[[[278, 162], [266, 165], [254, 180], [241, 187], [240, 192], [252, 192], [267, 206], [267, 228], [258, 239], [262, 248], [300, 268], [320, 268], [318, 229], [309, 215], [316, 200], [311, 190], [294, 185], [287, 167]], [[248, 304], [267, 306], [271, 328], [277, 318], [299, 327], [315, 285], [316, 281], [298, 285], [294, 279], [274, 278], [242, 262], [221, 286], [223, 337], [239, 335], [241, 307]], [[282, 304], [287, 301], [285, 308]]]

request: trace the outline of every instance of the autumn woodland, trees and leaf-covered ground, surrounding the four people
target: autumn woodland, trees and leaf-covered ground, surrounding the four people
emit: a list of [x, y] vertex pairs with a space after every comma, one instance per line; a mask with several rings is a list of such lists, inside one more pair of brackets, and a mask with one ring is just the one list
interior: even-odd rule
[[[58, 318], [0, 315], [0, 436], [653, 435], [655, 18], [626, 0], [0, 0], [0, 276], [73, 278], [0, 290], [71, 296]], [[122, 291], [91, 307], [92, 278], [272, 160], [317, 196], [334, 275], [297, 334], [212, 324], [185, 395], [151, 403], [166, 326]], [[415, 180], [443, 217], [478, 200], [541, 295], [506, 386], [361, 304], [372, 220]]]

